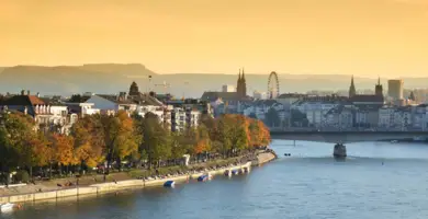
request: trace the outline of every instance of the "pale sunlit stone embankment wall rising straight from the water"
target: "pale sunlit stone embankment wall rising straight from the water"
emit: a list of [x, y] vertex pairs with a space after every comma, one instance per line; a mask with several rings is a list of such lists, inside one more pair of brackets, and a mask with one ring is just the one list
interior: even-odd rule
[[180, 175], [161, 180], [153, 181], [143, 181], [143, 180], [128, 180], [128, 181], [119, 181], [116, 183], [101, 183], [93, 184], [85, 187], [67, 188], [59, 191], [42, 192], [42, 193], [32, 193], [32, 194], [20, 194], [0, 197], [0, 204], [4, 203], [24, 203], [24, 201], [35, 201], [35, 200], [45, 200], [45, 199], [55, 199], [70, 196], [82, 196], [90, 194], [102, 194], [109, 192], [115, 192], [120, 189], [126, 189], [129, 187], [148, 187], [148, 186], [162, 186], [167, 181], [183, 182], [191, 178], [198, 178], [203, 174], [223, 174], [226, 170], [236, 170], [236, 169], [249, 169], [251, 162], [248, 162], [243, 165], [224, 168], [215, 171], [209, 171], [205, 173], [194, 173], [190, 175]]

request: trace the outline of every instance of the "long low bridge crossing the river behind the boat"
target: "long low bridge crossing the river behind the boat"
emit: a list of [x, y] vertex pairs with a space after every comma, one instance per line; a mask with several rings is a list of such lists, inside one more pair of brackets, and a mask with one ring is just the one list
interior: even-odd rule
[[280, 131], [271, 130], [272, 139], [331, 143], [361, 141], [428, 139], [428, 131]]

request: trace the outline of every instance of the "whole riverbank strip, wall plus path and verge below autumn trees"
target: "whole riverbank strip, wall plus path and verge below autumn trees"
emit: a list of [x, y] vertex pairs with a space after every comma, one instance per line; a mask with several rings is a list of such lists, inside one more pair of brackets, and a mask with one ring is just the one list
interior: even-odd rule
[[[270, 162], [275, 159], [273, 151], [259, 151], [256, 154], [255, 160], [245, 163], [238, 163], [235, 165], [226, 165], [223, 168], [205, 169], [201, 171], [192, 171], [182, 174], [168, 174], [165, 177], [157, 178], [131, 178], [127, 173], [116, 174], [113, 182], [108, 183], [92, 183], [89, 185], [69, 186], [67, 188], [58, 189], [56, 185], [38, 185], [43, 192], [34, 192], [35, 185], [25, 185], [20, 187], [1, 188], [7, 195], [0, 196], [0, 204], [4, 203], [23, 203], [23, 201], [36, 201], [44, 199], [55, 199], [70, 196], [83, 196], [83, 195], [97, 195], [102, 193], [116, 192], [121, 189], [127, 189], [132, 187], [149, 187], [149, 186], [162, 186], [167, 181], [174, 181], [176, 183], [195, 180], [203, 174], [218, 175], [224, 174], [226, 170], [249, 170], [251, 165], [260, 165], [262, 163]], [[95, 176], [97, 177], [97, 176]], [[94, 182], [97, 178], [94, 177]], [[65, 182], [67, 180], [64, 180]], [[101, 182], [101, 178], [100, 178]], [[43, 189], [42, 189], [43, 187]]]

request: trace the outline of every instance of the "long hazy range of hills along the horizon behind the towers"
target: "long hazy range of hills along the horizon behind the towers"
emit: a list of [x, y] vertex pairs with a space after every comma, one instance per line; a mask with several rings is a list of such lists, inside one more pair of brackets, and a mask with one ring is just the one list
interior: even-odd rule
[[[153, 76], [149, 84], [148, 76]], [[170, 92], [176, 96], [200, 97], [204, 91], [219, 91], [223, 84], [236, 85], [237, 73], [157, 74], [139, 64], [91, 64], [83, 66], [15, 66], [0, 68], [0, 93], [18, 93], [22, 89], [42, 94], [72, 94], [82, 92], [117, 93], [127, 91], [136, 81], [140, 91]], [[311, 90], [348, 90], [351, 76], [343, 74], [288, 74], [279, 73], [280, 92]], [[267, 74], [246, 74], [247, 92], [267, 91]], [[381, 79], [384, 91], [387, 79]], [[428, 78], [404, 78], [406, 89], [426, 88]], [[374, 89], [375, 79], [354, 78], [358, 90]], [[160, 84], [170, 84], [165, 88]], [[158, 85], [156, 85], [158, 84]]]

